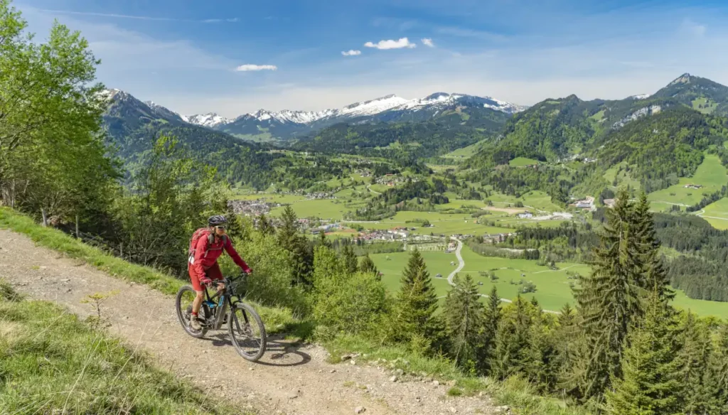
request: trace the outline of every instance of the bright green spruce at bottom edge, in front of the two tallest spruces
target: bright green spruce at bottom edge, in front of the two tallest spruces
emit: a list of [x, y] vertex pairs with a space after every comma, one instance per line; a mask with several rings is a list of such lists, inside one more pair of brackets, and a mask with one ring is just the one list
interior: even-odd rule
[[[676, 357], [677, 324], [662, 293], [655, 289], [644, 320], [628, 335], [622, 376], [613, 376], [606, 392], [607, 413], [614, 415], [676, 414], [680, 409], [680, 362]], [[701, 414], [703, 412], [700, 412]]]

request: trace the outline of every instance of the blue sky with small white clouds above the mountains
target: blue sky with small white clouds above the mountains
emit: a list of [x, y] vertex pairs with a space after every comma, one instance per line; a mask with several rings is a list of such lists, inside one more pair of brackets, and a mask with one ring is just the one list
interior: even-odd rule
[[524, 105], [572, 93], [624, 98], [684, 72], [728, 84], [728, 1], [14, 5], [41, 39], [54, 19], [82, 31], [108, 87], [181, 114], [317, 110], [390, 93], [462, 92]]

